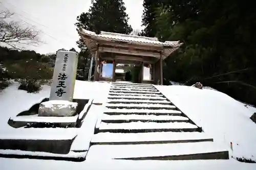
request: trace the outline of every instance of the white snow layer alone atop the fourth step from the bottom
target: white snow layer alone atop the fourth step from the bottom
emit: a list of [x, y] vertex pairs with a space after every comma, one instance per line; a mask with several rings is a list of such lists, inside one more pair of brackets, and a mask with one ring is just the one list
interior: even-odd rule
[[139, 115], [139, 114], [121, 114], [108, 115], [103, 114], [102, 120], [188, 120], [183, 116], [169, 116], [169, 115]]

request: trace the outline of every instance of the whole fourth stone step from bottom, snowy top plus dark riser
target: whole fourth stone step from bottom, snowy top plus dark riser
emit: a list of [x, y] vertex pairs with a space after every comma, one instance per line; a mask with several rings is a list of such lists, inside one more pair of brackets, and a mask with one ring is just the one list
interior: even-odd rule
[[101, 122], [104, 122], [104, 123], [130, 123], [130, 122], [168, 123], [168, 122], [189, 122], [189, 119], [183, 116], [169, 116], [169, 115], [103, 114], [101, 118]]

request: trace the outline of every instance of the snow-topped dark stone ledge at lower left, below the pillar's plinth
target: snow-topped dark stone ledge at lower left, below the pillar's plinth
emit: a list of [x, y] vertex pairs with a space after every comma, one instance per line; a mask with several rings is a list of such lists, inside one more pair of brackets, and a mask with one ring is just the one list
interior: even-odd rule
[[0, 149], [68, 154], [77, 128], [19, 128], [0, 132]]

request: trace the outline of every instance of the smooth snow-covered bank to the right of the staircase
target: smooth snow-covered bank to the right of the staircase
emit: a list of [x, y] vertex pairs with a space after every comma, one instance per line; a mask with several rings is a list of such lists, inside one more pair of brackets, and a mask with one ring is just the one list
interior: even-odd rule
[[[256, 160], [256, 125], [250, 119], [256, 108], [245, 107], [230, 96], [215, 90], [189, 86], [155, 86], [193, 122], [230, 148], [233, 157]], [[231, 154], [231, 153], [230, 153]]]

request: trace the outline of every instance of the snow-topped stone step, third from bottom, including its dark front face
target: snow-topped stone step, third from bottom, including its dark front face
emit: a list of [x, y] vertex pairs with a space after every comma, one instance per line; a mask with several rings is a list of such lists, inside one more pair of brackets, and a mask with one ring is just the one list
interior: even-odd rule
[[196, 132], [196, 125], [190, 123], [131, 122], [121, 124], [100, 123], [98, 132], [146, 133], [146, 132]]

